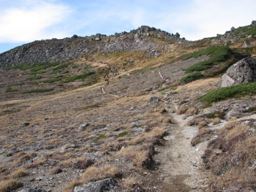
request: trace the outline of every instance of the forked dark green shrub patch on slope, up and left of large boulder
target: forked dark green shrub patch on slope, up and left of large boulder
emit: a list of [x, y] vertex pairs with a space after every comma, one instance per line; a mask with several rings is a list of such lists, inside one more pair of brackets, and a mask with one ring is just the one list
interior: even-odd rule
[[201, 51], [194, 52], [187, 57], [184, 57], [183, 60], [190, 59], [191, 57], [197, 58], [201, 55], [211, 54], [210, 59], [198, 62], [194, 65], [191, 65], [189, 68], [185, 69], [186, 73], [192, 73], [193, 71], [204, 71], [205, 69], [211, 68], [211, 65], [215, 62], [224, 62], [227, 59], [230, 49], [228, 46], [216, 46]]

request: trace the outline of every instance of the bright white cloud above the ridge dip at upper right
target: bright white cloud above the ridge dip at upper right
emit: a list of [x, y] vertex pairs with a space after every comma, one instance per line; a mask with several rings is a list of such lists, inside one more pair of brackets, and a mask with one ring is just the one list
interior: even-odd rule
[[195, 0], [187, 12], [180, 13], [174, 25], [189, 40], [213, 37], [224, 34], [232, 26], [251, 24], [256, 16], [255, 7], [254, 0]]

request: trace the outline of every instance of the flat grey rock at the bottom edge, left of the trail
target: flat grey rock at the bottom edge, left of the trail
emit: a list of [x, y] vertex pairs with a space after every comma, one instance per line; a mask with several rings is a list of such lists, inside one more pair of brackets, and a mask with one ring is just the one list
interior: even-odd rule
[[112, 178], [90, 182], [86, 185], [79, 185], [74, 188], [74, 192], [104, 192], [115, 188], [116, 181]]

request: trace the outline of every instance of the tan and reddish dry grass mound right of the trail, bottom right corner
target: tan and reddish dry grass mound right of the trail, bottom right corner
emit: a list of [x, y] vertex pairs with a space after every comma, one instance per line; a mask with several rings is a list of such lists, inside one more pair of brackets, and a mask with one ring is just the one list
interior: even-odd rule
[[[254, 127], [254, 119], [247, 121], [251, 121], [249, 124]], [[217, 148], [221, 146], [222, 152], [215, 154], [209, 149], [205, 151], [204, 156], [207, 160], [204, 162], [216, 174], [209, 184], [212, 191], [223, 188], [229, 191], [254, 190], [256, 137], [249, 128], [248, 124], [241, 121], [226, 123], [219, 130], [219, 140], [216, 140]]]

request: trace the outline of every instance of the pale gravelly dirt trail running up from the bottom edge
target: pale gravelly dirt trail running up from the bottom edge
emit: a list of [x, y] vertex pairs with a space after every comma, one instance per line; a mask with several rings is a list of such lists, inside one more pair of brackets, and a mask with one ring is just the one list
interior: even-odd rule
[[163, 191], [207, 191], [207, 178], [210, 171], [204, 169], [201, 155], [205, 143], [197, 147], [190, 145], [190, 140], [197, 132], [197, 127], [188, 127], [188, 120], [182, 115], [172, 113], [170, 134], [165, 137], [164, 146], [157, 148], [155, 160], [160, 163], [159, 172], [163, 179]]

